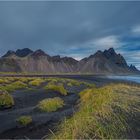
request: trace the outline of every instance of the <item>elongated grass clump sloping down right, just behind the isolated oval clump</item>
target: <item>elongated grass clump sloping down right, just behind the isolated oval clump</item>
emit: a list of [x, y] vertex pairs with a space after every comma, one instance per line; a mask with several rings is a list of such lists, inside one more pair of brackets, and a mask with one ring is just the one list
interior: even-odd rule
[[51, 90], [51, 91], [59, 92], [62, 95], [67, 95], [68, 94], [67, 90], [64, 88], [64, 86], [62, 84], [59, 84], [59, 85], [48, 84], [44, 88], [46, 90]]

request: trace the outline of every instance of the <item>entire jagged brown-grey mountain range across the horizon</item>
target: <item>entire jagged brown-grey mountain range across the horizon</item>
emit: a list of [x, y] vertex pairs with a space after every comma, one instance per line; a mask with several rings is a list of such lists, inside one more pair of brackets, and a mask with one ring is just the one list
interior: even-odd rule
[[0, 58], [1, 72], [38, 72], [55, 73], [91, 73], [91, 74], [139, 74], [133, 65], [128, 65], [121, 54], [113, 48], [97, 51], [80, 61], [72, 57], [50, 56], [41, 49], [29, 48], [8, 51]]

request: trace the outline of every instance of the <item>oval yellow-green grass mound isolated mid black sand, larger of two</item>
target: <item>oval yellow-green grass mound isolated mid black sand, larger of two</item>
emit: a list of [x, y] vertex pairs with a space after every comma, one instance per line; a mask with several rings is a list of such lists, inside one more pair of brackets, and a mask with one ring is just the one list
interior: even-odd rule
[[63, 106], [64, 101], [59, 97], [55, 97], [40, 101], [37, 108], [43, 112], [53, 112], [59, 108], [62, 108]]

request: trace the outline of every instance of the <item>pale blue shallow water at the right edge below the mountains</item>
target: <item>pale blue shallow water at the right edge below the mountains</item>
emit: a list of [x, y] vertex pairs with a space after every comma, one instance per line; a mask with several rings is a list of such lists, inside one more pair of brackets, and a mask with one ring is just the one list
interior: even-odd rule
[[134, 76], [107, 76], [109, 79], [125, 80], [140, 83], [140, 75]]

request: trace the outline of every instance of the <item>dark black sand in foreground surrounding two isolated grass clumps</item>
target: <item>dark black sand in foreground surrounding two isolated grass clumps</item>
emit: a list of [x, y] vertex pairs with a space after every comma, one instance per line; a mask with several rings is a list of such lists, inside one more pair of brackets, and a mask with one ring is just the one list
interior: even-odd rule
[[[74, 105], [78, 94], [68, 93], [67, 96], [57, 92], [47, 92], [43, 89], [33, 91], [16, 91], [13, 94], [15, 106], [11, 109], [0, 111], [0, 138], [42, 138], [55, 122], [74, 113]], [[60, 97], [65, 106], [56, 112], [44, 113], [36, 109], [36, 105], [44, 98]], [[18, 126], [16, 119], [22, 115], [31, 115], [33, 123], [27, 127]]]

